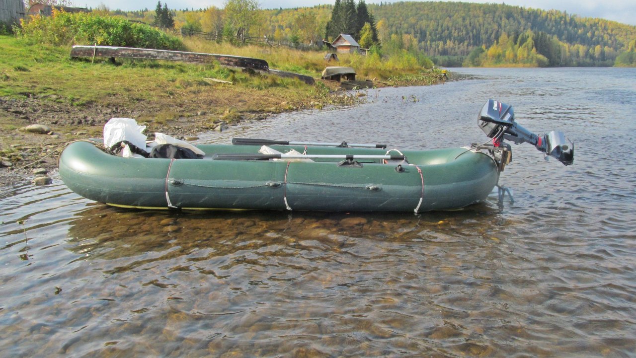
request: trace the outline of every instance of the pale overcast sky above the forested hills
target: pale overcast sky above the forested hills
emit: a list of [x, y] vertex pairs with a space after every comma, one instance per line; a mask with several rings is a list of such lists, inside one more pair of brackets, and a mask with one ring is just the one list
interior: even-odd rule
[[[158, 0], [74, 0], [75, 6], [96, 8], [99, 4], [106, 4], [111, 10], [141, 10], [143, 8], [156, 8]], [[184, 8], [207, 8], [209, 6], [217, 6], [223, 8], [223, 0], [166, 0], [163, 3], [168, 4], [170, 9]], [[391, 3], [392, 1], [383, 1]], [[556, 9], [567, 11], [569, 14], [576, 14], [581, 17], [600, 17], [608, 20], [622, 22], [623, 24], [636, 25], [636, 1], [635, 0], [465, 0], [467, 3], [506, 3], [509, 5], [525, 6], [527, 8], [539, 8], [544, 10]], [[335, 1], [328, 0], [260, 0], [261, 8], [293, 8], [302, 6], [314, 6], [317, 4], [333, 4]], [[357, 3], [357, 1], [356, 1]], [[380, 1], [368, 0], [366, 3], [377, 3]]]

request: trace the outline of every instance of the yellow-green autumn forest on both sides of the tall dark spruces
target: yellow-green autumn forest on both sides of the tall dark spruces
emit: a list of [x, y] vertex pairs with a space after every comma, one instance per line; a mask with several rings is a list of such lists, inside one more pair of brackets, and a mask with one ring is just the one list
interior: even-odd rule
[[[259, 10], [250, 35], [294, 43], [332, 40], [333, 8]], [[438, 65], [636, 65], [636, 26], [600, 18], [506, 4], [400, 2], [366, 9], [383, 52], [420, 52]], [[115, 12], [146, 21], [154, 11]], [[175, 11], [175, 22], [220, 32], [223, 9]]]

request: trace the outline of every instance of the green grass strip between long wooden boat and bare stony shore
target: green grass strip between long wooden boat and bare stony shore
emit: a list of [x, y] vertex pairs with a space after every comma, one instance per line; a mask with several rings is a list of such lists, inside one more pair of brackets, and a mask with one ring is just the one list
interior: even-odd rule
[[71, 59], [70, 46], [36, 44], [11, 36], [0, 36], [0, 46], [4, 52], [0, 57], [0, 96], [54, 95], [57, 102], [74, 106], [158, 101], [178, 93], [193, 95], [214, 88], [203, 78], [231, 80], [239, 88], [258, 90], [307, 87], [293, 79], [243, 73], [219, 64], [124, 60], [121, 65], [113, 65], [103, 59], [93, 64]]

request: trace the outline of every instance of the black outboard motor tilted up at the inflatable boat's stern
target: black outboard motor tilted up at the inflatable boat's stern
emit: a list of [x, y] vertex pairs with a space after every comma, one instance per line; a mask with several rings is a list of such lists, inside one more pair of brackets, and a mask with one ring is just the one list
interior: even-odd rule
[[563, 132], [553, 130], [545, 135], [530, 132], [516, 123], [515, 111], [508, 104], [488, 100], [481, 108], [477, 123], [481, 130], [493, 139], [495, 146], [499, 146], [506, 139], [515, 144], [527, 142], [543, 152], [546, 159], [551, 156], [564, 165], [574, 163], [574, 143], [566, 141]]

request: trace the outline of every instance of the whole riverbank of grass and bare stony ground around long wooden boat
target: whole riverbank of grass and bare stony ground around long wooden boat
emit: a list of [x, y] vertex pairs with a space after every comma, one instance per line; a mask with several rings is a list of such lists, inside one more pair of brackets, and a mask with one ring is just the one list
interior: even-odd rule
[[[272, 68], [317, 78], [326, 65], [322, 52], [236, 48], [194, 39], [184, 43], [190, 51], [256, 57], [270, 62]], [[144, 123], [148, 133], [184, 136], [210, 130], [222, 121], [231, 125], [282, 111], [350, 105], [361, 100], [330, 81], [312, 86], [219, 64], [73, 60], [69, 58], [70, 45], [46, 45], [14, 36], [0, 36], [0, 48], [0, 155], [14, 169], [74, 139], [101, 137], [104, 123], [118, 116]], [[361, 60], [359, 56], [350, 59]], [[341, 65], [350, 63], [346, 61], [341, 60]], [[362, 76], [359, 78], [380, 74]], [[20, 130], [34, 123], [47, 125], [52, 134]], [[51, 155], [43, 166], [55, 167], [55, 158]]]

